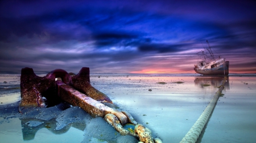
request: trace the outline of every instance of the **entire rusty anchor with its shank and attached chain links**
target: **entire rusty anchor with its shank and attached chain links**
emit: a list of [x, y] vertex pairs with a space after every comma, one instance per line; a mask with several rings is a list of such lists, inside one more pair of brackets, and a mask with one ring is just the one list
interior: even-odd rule
[[[73, 106], [79, 106], [92, 116], [101, 116], [112, 125], [121, 135], [133, 135], [140, 142], [162, 142], [159, 138], [151, 136], [150, 129], [142, 124], [137, 124], [129, 112], [112, 109], [104, 103], [111, 103], [111, 99], [90, 84], [88, 67], [83, 67], [75, 76], [57, 69], [49, 72], [44, 77], [36, 76], [32, 68], [22, 68], [20, 76], [19, 111], [29, 107], [46, 107], [66, 101]], [[61, 80], [57, 80], [56, 78]], [[47, 99], [47, 103], [43, 98]], [[130, 123], [135, 125], [134, 132], [123, 128]]]

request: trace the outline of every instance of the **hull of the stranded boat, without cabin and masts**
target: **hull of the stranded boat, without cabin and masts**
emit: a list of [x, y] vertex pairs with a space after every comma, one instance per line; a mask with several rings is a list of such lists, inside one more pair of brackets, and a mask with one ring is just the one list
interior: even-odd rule
[[200, 73], [201, 75], [229, 75], [229, 61], [226, 61], [224, 64], [214, 68], [194, 68], [196, 73]]

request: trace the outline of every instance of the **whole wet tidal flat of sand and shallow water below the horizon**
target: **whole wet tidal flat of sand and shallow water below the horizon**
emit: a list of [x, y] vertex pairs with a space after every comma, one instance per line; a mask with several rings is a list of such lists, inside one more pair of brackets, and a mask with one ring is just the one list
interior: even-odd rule
[[[163, 142], [181, 141], [222, 79], [199, 75], [90, 76], [91, 84], [108, 95], [118, 110], [130, 112]], [[256, 140], [255, 82], [256, 76], [228, 77], [224, 95], [197, 142]], [[19, 83], [19, 75], [0, 76], [1, 142], [138, 142], [133, 136], [121, 136], [104, 119], [92, 118], [68, 103], [20, 115]]]

